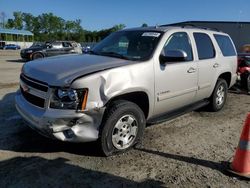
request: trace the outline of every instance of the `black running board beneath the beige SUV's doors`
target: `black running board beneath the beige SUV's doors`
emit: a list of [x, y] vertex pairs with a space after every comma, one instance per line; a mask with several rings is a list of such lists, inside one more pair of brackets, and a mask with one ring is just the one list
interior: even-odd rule
[[147, 125], [153, 125], [153, 124], [162, 123], [164, 121], [172, 120], [178, 116], [181, 116], [181, 115], [186, 114], [188, 112], [192, 112], [192, 111], [197, 110], [199, 108], [202, 108], [208, 104], [209, 104], [208, 100], [202, 100], [202, 101], [196, 102], [194, 104], [191, 104], [191, 105], [182, 107], [180, 109], [177, 109], [177, 110], [168, 112], [166, 114], [162, 114], [160, 116], [149, 119], [147, 121]]

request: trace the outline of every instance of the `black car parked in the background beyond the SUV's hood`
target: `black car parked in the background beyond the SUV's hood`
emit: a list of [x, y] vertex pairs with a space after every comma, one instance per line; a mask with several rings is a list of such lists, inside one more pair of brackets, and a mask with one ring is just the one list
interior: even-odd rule
[[21, 50], [21, 57], [25, 60], [34, 60], [44, 57], [81, 54], [81, 46], [74, 41], [53, 41], [34, 43], [31, 47]]

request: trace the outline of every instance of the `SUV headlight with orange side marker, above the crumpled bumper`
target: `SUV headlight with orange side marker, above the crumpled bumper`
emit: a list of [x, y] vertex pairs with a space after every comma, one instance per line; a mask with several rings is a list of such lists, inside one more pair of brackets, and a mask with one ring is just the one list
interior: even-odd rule
[[83, 111], [86, 107], [88, 89], [55, 89], [50, 108]]

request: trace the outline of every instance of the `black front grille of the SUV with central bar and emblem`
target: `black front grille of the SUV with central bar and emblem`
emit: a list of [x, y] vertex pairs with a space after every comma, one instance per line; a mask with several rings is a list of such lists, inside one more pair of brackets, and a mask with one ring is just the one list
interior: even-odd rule
[[44, 108], [48, 85], [23, 74], [20, 76], [20, 90], [23, 97], [31, 104]]

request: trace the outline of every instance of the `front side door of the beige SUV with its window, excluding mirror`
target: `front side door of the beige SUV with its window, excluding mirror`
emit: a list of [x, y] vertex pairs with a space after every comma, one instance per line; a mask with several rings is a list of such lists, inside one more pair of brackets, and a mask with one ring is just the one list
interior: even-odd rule
[[186, 61], [158, 61], [155, 67], [155, 114], [162, 114], [191, 104], [197, 91], [197, 63], [189, 34], [175, 32], [167, 37], [163, 51], [183, 50]]

